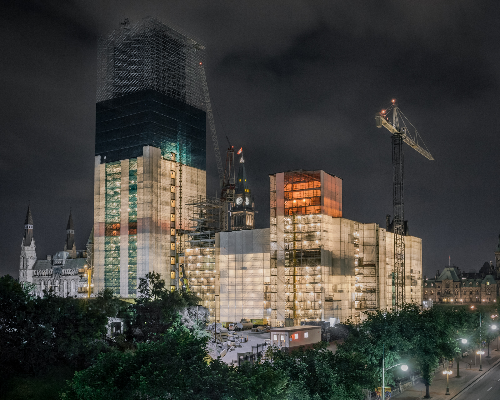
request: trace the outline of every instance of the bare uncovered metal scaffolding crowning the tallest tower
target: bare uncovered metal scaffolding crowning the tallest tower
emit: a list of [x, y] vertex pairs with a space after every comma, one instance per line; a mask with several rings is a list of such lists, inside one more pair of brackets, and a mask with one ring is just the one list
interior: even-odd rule
[[151, 88], [204, 110], [205, 44], [151, 16], [122, 25], [99, 37], [96, 101]]

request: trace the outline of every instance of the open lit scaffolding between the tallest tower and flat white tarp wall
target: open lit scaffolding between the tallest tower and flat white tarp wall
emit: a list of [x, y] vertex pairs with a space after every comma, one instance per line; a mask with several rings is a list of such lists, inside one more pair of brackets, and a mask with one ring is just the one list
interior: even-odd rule
[[[217, 318], [215, 233], [220, 231], [223, 207], [218, 198], [197, 195], [186, 199], [185, 210], [190, 226], [189, 230], [181, 231], [184, 245], [183, 251], [179, 251], [179, 264], [183, 264], [188, 275], [190, 291], [200, 298], [198, 304], [208, 309], [210, 322], [213, 322]], [[179, 271], [180, 279], [181, 275]]]

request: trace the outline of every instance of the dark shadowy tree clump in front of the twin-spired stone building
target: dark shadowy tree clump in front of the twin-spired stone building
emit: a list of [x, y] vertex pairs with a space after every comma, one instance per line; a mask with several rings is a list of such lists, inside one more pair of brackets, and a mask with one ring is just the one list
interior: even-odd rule
[[97, 340], [107, 316], [116, 315], [116, 299], [99, 293], [77, 299], [44, 293], [33, 297], [12, 277], [0, 277], [0, 370], [36, 374], [48, 364], [86, 367], [105, 348]]

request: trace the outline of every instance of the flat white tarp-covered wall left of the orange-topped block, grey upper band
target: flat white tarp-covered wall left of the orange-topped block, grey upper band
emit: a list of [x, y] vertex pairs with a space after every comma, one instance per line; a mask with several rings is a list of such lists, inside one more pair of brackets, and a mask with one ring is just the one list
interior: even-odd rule
[[220, 321], [264, 316], [264, 281], [270, 274], [269, 234], [269, 228], [217, 233]]

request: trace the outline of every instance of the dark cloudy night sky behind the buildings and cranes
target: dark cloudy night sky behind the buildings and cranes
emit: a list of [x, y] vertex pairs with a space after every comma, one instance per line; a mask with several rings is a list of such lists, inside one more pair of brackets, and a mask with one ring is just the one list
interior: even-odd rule
[[[124, 17], [170, 21], [206, 42], [225, 136], [243, 146], [257, 227], [268, 174], [343, 178], [343, 216], [385, 227], [392, 98], [435, 160], [405, 145], [405, 219], [423, 273], [478, 270], [500, 231], [496, 1], [11, 1], [0, 40], [0, 274], [18, 277], [31, 202], [38, 258], [62, 250], [72, 207], [78, 249], [93, 218], [97, 37]], [[213, 107], [213, 105], [212, 105]], [[207, 136], [208, 194], [218, 191]], [[222, 154], [224, 157], [225, 155]]]

